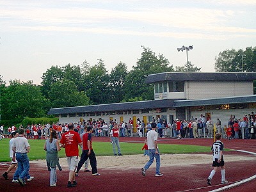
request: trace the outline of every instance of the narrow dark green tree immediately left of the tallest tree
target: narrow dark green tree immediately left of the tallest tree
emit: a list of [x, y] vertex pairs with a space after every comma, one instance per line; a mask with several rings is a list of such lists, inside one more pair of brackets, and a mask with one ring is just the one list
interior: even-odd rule
[[115, 103], [124, 99], [124, 80], [127, 74], [127, 66], [121, 61], [112, 68], [109, 74], [109, 102]]

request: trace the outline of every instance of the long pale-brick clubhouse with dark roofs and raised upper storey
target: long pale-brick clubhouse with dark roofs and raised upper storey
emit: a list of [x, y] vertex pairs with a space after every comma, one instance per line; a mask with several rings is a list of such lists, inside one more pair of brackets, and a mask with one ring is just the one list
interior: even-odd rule
[[147, 76], [146, 83], [154, 86], [154, 100], [77, 106], [50, 109], [49, 115], [59, 122], [83, 122], [110, 119], [128, 122], [137, 118], [150, 122], [160, 117], [173, 122], [176, 118], [189, 120], [201, 114], [228, 123], [230, 115], [242, 118], [256, 112], [253, 95], [256, 72], [163, 72]]

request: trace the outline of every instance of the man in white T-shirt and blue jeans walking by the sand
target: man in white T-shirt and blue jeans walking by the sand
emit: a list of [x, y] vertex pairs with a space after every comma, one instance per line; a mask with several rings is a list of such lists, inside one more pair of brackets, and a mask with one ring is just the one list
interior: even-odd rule
[[156, 132], [156, 123], [152, 123], [151, 125], [152, 130], [148, 131], [147, 134], [147, 144], [148, 144], [148, 153], [149, 153], [149, 160], [145, 164], [143, 168], [141, 168], [141, 173], [143, 176], [145, 176], [146, 170], [151, 166], [151, 164], [154, 162], [154, 158], [156, 158], [156, 177], [163, 176], [162, 173], [160, 173], [160, 152], [157, 147], [157, 132]]

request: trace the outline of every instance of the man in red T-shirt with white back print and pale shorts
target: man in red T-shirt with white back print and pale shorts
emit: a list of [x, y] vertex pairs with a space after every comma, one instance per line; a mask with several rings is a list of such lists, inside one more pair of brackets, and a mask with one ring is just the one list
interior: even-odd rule
[[[74, 124], [68, 124], [68, 131], [63, 134], [61, 137], [60, 143], [61, 147], [65, 148], [65, 153], [67, 156], [68, 162], [68, 188], [75, 187], [77, 182], [75, 179], [75, 170], [78, 164], [78, 156], [79, 156], [79, 149], [78, 145], [82, 145], [82, 140], [78, 134], [78, 132], [74, 131]], [[71, 183], [73, 181], [73, 184]]]

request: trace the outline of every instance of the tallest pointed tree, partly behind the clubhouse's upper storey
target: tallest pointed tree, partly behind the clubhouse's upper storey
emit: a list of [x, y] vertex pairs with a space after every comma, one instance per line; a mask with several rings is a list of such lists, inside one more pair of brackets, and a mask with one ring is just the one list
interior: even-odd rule
[[136, 97], [142, 97], [143, 100], [154, 99], [154, 87], [145, 83], [148, 74], [173, 71], [173, 66], [164, 58], [163, 54], [156, 56], [156, 53], [149, 48], [141, 46], [143, 52], [141, 58], [132, 67], [132, 70], [125, 78], [125, 99], [129, 100]]

